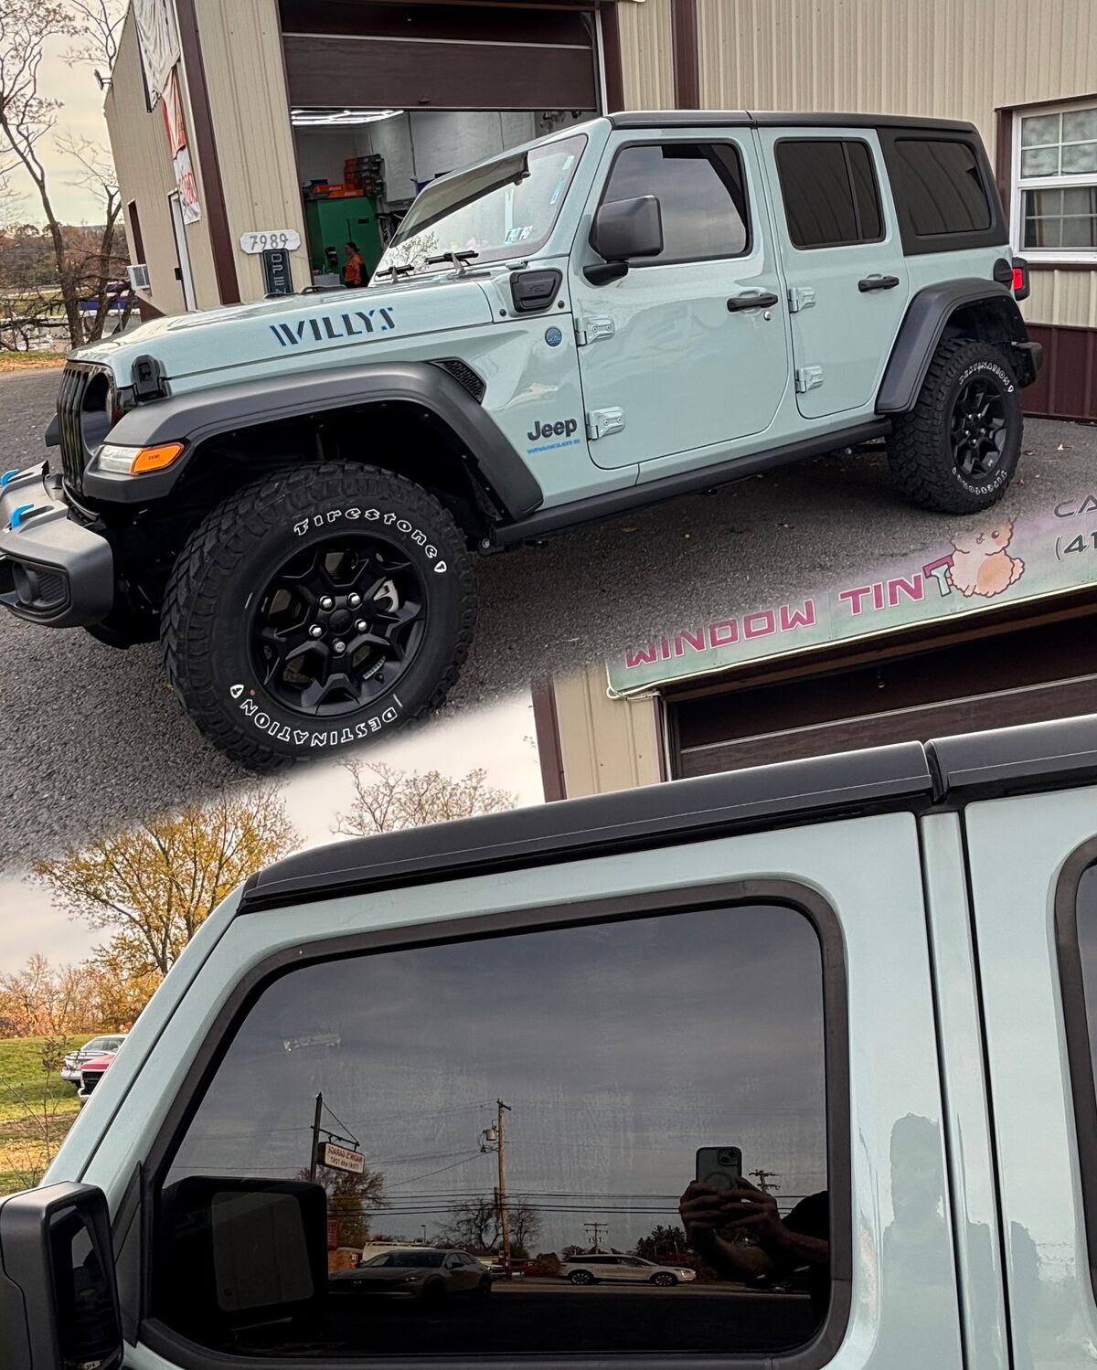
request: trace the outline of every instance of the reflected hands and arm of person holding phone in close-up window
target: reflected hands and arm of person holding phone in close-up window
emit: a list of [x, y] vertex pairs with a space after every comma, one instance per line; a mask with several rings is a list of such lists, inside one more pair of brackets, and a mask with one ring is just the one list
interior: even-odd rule
[[[830, 1199], [826, 1191], [808, 1195], [785, 1218], [777, 1199], [749, 1180], [737, 1178], [726, 1189], [694, 1181], [682, 1195], [678, 1212], [686, 1241], [703, 1260], [729, 1280], [757, 1280], [778, 1271], [808, 1267], [811, 1307], [819, 1322], [830, 1302]], [[755, 1244], [727, 1241], [719, 1233], [749, 1233]]]

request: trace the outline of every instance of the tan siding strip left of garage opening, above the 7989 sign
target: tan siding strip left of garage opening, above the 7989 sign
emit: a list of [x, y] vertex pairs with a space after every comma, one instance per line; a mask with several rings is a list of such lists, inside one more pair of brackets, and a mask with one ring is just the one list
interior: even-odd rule
[[210, 108], [242, 300], [263, 297], [263, 267], [240, 248], [252, 229], [296, 229], [293, 285], [311, 285], [289, 122], [277, 0], [199, 0]]

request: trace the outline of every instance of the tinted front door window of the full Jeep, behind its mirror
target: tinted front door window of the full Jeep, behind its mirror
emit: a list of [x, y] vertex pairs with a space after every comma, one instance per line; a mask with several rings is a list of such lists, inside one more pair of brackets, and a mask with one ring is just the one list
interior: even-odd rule
[[622, 148], [604, 201], [653, 195], [663, 251], [637, 266], [741, 256], [749, 244], [738, 149], [726, 142], [652, 142]]

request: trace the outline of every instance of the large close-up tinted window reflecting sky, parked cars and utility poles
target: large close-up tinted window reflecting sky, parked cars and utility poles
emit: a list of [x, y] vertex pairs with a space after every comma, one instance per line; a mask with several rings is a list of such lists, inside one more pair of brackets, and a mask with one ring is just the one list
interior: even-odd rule
[[167, 1164], [156, 1311], [247, 1356], [801, 1345], [823, 1043], [819, 938], [779, 906], [294, 969]]

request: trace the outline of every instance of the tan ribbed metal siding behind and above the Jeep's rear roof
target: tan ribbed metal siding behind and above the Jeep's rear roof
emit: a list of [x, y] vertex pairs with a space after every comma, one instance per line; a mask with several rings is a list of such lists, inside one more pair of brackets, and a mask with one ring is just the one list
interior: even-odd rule
[[[1094, 0], [697, 0], [697, 19], [707, 108], [970, 119], [993, 160], [996, 110], [1097, 93]], [[1097, 325], [1097, 275], [1034, 273], [1024, 312]]]

